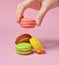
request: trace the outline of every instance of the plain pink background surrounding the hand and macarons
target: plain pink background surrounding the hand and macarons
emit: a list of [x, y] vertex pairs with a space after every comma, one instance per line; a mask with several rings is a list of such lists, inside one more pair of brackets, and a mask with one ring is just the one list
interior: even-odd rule
[[[59, 8], [46, 14], [41, 27], [23, 29], [16, 23], [16, 6], [21, 1], [0, 0], [0, 65], [59, 65]], [[37, 13], [30, 9], [24, 15], [35, 18]], [[25, 32], [40, 39], [46, 54], [22, 56], [15, 53], [14, 41]]]

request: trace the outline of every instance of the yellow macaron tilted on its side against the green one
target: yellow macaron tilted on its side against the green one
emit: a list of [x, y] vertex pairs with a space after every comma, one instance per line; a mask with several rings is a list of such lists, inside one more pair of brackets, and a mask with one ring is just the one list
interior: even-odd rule
[[43, 48], [41, 42], [40, 42], [36, 37], [31, 37], [30, 43], [31, 43], [32, 47], [34, 48], [34, 50], [35, 50], [38, 54], [44, 52], [44, 48]]

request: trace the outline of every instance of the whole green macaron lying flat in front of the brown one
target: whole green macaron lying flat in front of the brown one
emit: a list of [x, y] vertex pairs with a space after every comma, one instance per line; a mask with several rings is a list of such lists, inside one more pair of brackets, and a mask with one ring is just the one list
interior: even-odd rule
[[28, 55], [32, 52], [32, 47], [27, 42], [22, 42], [16, 45], [16, 53], [21, 55]]

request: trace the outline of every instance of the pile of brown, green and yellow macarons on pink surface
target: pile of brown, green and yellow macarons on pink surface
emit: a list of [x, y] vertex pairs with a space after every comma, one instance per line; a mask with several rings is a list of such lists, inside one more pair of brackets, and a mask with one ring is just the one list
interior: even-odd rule
[[21, 34], [16, 38], [15, 49], [17, 54], [27, 55], [33, 52], [41, 54], [44, 52], [44, 47], [41, 42], [30, 34]]

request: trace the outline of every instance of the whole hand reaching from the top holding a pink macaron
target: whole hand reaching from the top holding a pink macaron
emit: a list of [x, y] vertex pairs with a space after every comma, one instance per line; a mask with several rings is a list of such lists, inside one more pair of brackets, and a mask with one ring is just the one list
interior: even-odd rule
[[46, 13], [50, 9], [57, 7], [58, 4], [59, 0], [24, 0], [22, 3], [17, 5], [17, 22], [21, 20], [25, 9], [33, 8], [35, 10], [39, 10], [39, 13], [36, 17], [36, 24], [40, 26]]

